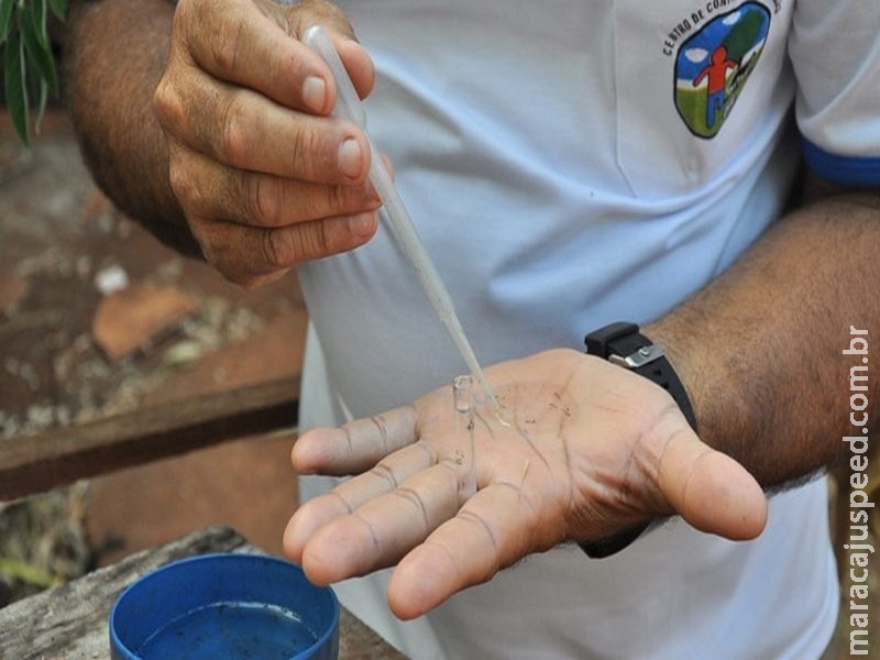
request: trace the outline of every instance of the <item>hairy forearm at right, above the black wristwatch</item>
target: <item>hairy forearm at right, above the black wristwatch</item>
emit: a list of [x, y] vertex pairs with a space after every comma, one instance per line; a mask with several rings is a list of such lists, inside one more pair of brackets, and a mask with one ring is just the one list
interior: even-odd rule
[[[869, 343], [880, 330], [878, 283], [880, 194], [838, 195], [781, 220], [646, 332], [667, 346], [701, 438], [773, 487], [842, 455], [843, 437], [862, 436], [849, 399], [850, 367], [865, 365], [842, 351], [850, 327], [870, 330]], [[862, 393], [866, 438], [878, 432], [878, 383]]]

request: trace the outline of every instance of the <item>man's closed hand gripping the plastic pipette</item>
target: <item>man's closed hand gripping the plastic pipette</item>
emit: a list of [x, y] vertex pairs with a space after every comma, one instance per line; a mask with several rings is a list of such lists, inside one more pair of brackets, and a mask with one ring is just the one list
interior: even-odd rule
[[356, 248], [377, 227], [366, 139], [328, 117], [332, 75], [299, 42], [315, 22], [369, 94], [372, 62], [327, 2], [180, 0], [175, 12], [154, 97], [172, 187], [206, 258], [245, 286]]

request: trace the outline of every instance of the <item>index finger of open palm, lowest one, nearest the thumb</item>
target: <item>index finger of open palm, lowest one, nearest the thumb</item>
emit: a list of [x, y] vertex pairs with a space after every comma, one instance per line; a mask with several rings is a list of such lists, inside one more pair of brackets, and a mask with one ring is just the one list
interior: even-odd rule
[[394, 570], [388, 584], [394, 614], [402, 619], [421, 616], [518, 558], [558, 542], [531, 537], [527, 530], [536, 527], [535, 509], [522, 504], [512, 485], [494, 484], [476, 493]]

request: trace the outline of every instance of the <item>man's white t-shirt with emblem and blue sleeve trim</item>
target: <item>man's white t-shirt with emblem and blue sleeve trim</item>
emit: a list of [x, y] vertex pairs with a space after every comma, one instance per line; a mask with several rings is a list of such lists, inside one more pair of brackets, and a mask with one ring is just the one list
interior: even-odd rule
[[[377, 68], [369, 130], [485, 364], [651, 320], [729, 266], [785, 202], [795, 97], [811, 164], [880, 183], [873, 0], [339, 4]], [[466, 371], [389, 230], [300, 279], [305, 428]], [[773, 496], [754, 542], [673, 520], [604, 560], [560, 547], [418, 622], [385, 580], [338, 591], [414, 658], [800, 660], [837, 609], [821, 481]]]

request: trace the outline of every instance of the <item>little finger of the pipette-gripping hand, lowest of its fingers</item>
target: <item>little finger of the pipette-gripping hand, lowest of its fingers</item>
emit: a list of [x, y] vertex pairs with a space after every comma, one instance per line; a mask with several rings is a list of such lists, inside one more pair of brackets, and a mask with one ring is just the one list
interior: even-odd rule
[[376, 231], [375, 212], [300, 222], [277, 229], [190, 219], [205, 258], [230, 282], [254, 287], [309, 260], [365, 243]]

